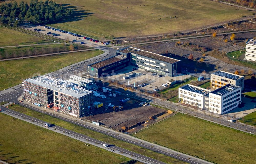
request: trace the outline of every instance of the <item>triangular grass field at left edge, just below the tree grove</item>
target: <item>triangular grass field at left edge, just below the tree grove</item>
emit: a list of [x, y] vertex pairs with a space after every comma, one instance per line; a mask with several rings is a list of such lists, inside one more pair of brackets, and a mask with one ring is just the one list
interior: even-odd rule
[[43, 39], [2, 26], [0, 26], [0, 36], [0, 47], [52, 42], [51, 40]]

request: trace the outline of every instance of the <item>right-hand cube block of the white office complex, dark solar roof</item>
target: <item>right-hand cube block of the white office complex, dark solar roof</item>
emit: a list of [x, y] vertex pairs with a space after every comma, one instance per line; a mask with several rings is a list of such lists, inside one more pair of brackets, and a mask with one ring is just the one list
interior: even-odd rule
[[204, 108], [218, 114], [226, 113], [241, 103], [241, 94], [241, 87], [227, 84], [205, 95]]

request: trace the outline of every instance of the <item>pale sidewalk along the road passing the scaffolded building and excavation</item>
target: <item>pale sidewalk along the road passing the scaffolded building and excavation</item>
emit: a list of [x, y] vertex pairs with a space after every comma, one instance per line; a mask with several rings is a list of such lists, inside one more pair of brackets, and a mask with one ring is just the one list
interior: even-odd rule
[[[20, 101], [21, 97], [19, 97], [18, 100]], [[135, 138], [134, 136], [130, 136], [128, 134], [124, 134], [124, 133], [121, 133], [121, 132], [118, 132], [118, 131], [114, 131], [114, 130], [111, 130], [111, 129], [108, 129], [108, 128], [105, 128], [105, 127], [102, 127], [102, 126], [97, 126], [95, 124], [92, 124], [91, 122], [87, 122], [85, 120], [80, 120], [79, 118], [75, 118], [75, 117], [72, 117], [72, 116], [69, 116], [69, 115], [65, 115], [65, 114], [62, 114], [60, 112], [55, 112], [55, 111], [53, 111], [51, 109], [48, 109], [48, 108], [45, 109], [45, 107], [39, 107], [39, 106], [36, 106], [36, 105], [32, 105], [31, 103], [28, 103], [26, 101], [23, 101], [21, 103], [25, 104], [25, 105], [29, 105], [33, 108], [39, 109], [43, 112], [51, 113], [51, 114], [57, 115], [59, 117], [63, 117], [63, 118], [78, 122], [80, 124], [84, 124], [86, 126], [94, 128], [94, 129], [99, 129], [99, 130], [105, 131], [109, 134], [116, 135], [116, 136], [119, 136], [123, 139], [133, 141], [134, 143], [138, 143], [138, 144], [141, 144], [141, 145], [144, 145], [144, 146], [147, 146], [147, 147], [151, 147], [151, 148], [155, 149], [156, 152], [159, 152], [159, 153], [172, 154], [172, 155], [175, 155], [175, 156], [178, 156], [178, 157], [182, 157], [182, 158], [185, 158], [185, 159], [192, 160], [192, 161], [197, 162], [197, 163], [203, 163], [204, 162], [203, 159], [196, 158], [196, 157], [190, 156], [188, 154], [183, 154], [181, 152], [177, 152], [177, 151], [174, 151], [172, 149], [169, 149], [169, 148], [166, 148], [166, 147], [154, 144], [154, 143], [152, 144], [150, 142], [147, 142], [147, 141], [139, 139], [139, 138]], [[211, 163], [211, 162], [205, 161], [205, 163]]]

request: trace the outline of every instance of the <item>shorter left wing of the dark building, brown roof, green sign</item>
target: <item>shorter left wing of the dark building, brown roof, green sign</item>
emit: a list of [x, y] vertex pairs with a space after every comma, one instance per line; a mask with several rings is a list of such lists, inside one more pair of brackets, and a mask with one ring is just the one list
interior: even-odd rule
[[112, 75], [115, 71], [128, 66], [129, 62], [129, 55], [118, 54], [117, 56], [88, 65], [87, 71], [91, 76], [99, 78], [104, 75]]

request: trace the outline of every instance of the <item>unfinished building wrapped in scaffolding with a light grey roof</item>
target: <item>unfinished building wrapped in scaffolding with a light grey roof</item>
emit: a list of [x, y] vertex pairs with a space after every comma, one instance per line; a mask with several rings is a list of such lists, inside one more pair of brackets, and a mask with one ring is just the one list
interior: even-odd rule
[[24, 81], [24, 98], [38, 106], [49, 106], [75, 117], [94, 112], [93, 92], [71, 82], [38, 76]]

